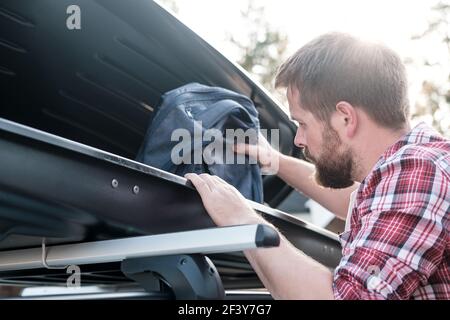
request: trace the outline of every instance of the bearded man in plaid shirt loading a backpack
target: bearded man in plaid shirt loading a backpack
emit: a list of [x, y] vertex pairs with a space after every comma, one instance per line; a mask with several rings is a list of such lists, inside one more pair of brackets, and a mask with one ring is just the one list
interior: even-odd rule
[[[334, 274], [285, 238], [246, 257], [275, 298], [450, 299], [450, 142], [411, 128], [404, 66], [390, 49], [321, 36], [280, 68], [298, 122], [294, 143], [315, 168], [270, 148], [236, 146], [347, 219]], [[315, 179], [310, 179], [311, 175]], [[219, 226], [268, 223], [217, 177], [188, 174]]]

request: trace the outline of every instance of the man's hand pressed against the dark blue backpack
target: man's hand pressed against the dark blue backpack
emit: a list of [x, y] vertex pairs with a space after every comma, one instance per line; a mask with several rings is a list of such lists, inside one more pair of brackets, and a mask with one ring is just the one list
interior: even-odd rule
[[258, 136], [258, 143], [251, 144], [236, 144], [234, 152], [238, 154], [246, 154], [249, 157], [256, 159], [263, 174], [277, 174], [280, 152], [272, 148], [266, 138], [260, 133]]

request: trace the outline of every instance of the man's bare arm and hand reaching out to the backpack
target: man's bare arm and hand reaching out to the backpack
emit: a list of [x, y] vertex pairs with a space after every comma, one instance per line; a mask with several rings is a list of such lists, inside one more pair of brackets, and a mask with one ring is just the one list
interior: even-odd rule
[[257, 159], [263, 171], [276, 173], [305, 196], [318, 202], [341, 219], [346, 219], [350, 194], [359, 187], [359, 183], [340, 190], [324, 188], [314, 179], [314, 165], [281, 154], [273, 149], [262, 135], [257, 145], [236, 145], [235, 152], [248, 154]]

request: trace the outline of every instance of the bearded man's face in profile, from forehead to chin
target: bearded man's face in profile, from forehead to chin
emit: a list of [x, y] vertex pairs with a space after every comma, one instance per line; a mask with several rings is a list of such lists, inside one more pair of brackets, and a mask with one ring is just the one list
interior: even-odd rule
[[354, 156], [344, 145], [339, 134], [328, 123], [318, 121], [310, 112], [301, 108], [297, 89], [288, 89], [291, 118], [298, 122], [294, 143], [303, 148], [305, 158], [316, 166], [318, 184], [334, 189], [353, 185]]

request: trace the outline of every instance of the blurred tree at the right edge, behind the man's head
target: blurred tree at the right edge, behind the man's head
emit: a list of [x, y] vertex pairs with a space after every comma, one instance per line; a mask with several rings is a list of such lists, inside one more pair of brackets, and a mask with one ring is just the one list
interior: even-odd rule
[[[437, 38], [439, 45], [444, 47], [447, 60], [450, 59], [450, 1], [439, 1], [432, 7], [434, 17], [430, 20], [428, 28], [420, 35], [412, 37], [413, 40], [427, 40]], [[426, 68], [445, 68], [440, 62], [425, 59]], [[450, 71], [447, 72], [445, 83], [436, 83], [436, 80], [426, 80], [422, 84], [422, 99], [415, 105], [412, 117], [425, 120], [444, 135], [450, 137]]]

